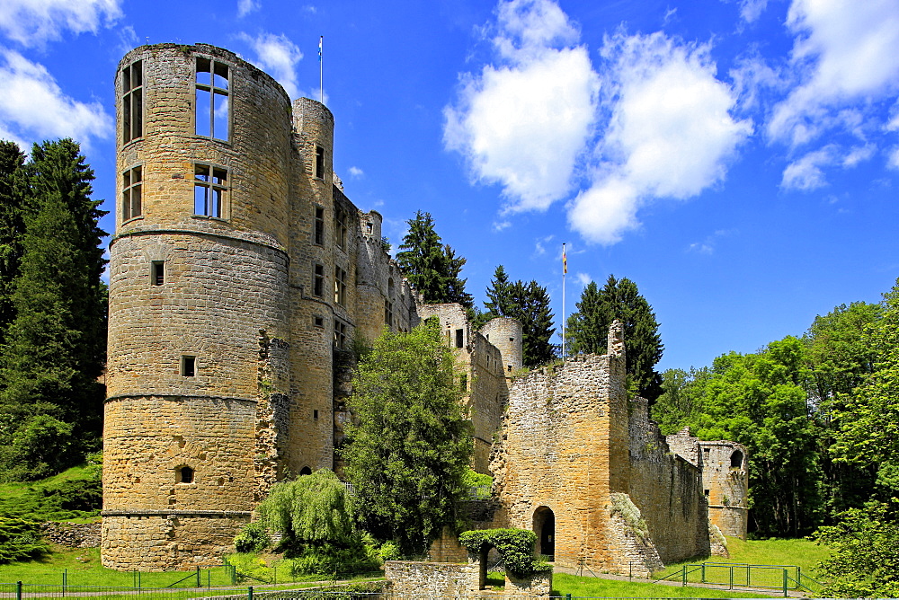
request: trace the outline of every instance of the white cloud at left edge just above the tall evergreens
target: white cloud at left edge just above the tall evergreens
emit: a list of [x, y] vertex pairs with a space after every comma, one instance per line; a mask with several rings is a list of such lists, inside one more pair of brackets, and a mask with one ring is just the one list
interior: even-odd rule
[[[20, 144], [72, 137], [89, 147], [93, 138], [111, 133], [112, 119], [100, 102], [68, 97], [46, 67], [13, 50], [0, 49], [0, 135]], [[22, 149], [27, 151], [29, 146]]]

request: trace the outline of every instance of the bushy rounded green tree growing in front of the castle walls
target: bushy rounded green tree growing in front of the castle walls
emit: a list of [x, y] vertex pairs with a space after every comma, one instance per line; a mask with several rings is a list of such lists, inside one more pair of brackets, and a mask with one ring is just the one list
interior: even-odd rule
[[347, 404], [358, 424], [343, 458], [362, 522], [404, 554], [422, 553], [457, 523], [472, 453], [460, 375], [440, 323], [383, 332], [360, 358]]

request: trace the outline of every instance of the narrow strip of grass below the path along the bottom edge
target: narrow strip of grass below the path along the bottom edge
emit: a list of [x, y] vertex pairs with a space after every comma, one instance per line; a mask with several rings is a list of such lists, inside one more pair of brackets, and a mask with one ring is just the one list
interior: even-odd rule
[[761, 594], [733, 592], [708, 587], [672, 587], [652, 583], [631, 583], [615, 579], [553, 575], [553, 596], [603, 598], [764, 598]]

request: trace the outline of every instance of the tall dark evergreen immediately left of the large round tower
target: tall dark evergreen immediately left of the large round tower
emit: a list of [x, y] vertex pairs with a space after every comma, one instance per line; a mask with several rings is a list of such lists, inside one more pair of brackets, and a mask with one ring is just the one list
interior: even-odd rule
[[105, 395], [97, 381], [106, 343], [105, 234], [97, 221], [105, 213], [90, 199], [93, 171], [71, 140], [35, 145], [23, 169], [29, 210], [15, 316], [0, 349], [0, 413], [20, 425], [13, 437], [58, 437], [70, 426], [75, 441], [52, 465], [17, 454], [13, 440], [0, 441], [7, 478], [46, 476], [77, 462], [99, 439]]

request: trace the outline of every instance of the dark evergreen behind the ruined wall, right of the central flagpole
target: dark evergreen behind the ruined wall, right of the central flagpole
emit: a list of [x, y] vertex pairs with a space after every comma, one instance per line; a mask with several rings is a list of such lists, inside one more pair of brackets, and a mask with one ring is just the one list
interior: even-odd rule
[[577, 311], [568, 317], [567, 351], [604, 354], [609, 327], [616, 319], [624, 323], [629, 385], [653, 402], [662, 393], [662, 375], [654, 367], [664, 346], [653, 307], [630, 279], [610, 275], [602, 289], [593, 281], [584, 287]]

